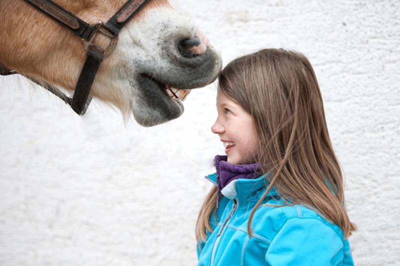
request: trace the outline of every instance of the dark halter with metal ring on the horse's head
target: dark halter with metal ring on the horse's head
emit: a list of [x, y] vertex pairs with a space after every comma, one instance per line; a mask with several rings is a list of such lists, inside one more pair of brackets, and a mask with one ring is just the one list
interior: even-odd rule
[[[91, 84], [93, 83], [98, 66], [102, 59], [110, 54], [118, 41], [119, 30], [148, 2], [148, 0], [128, 0], [106, 23], [98, 22], [89, 25], [74, 14], [65, 10], [51, 0], [25, 0], [40, 11], [44, 12], [60, 24], [66, 26], [73, 33], [82, 38], [84, 49], [87, 51], [86, 60], [79, 74], [78, 81], [72, 98], [66, 96], [54, 86], [39, 82], [35, 78], [28, 77], [33, 82], [43, 86], [65, 103], [79, 115], [83, 115], [91, 101], [89, 97]], [[108, 38], [107, 45], [96, 43], [96, 35], [102, 34]], [[15, 70], [10, 70], [0, 64], [0, 75], [16, 74]]]

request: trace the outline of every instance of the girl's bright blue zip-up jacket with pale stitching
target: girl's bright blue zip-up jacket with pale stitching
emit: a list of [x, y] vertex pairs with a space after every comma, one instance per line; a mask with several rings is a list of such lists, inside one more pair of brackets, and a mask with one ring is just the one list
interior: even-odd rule
[[[216, 185], [216, 175], [206, 177]], [[265, 192], [266, 179], [237, 179], [225, 189], [213, 232], [197, 245], [198, 266], [354, 265], [350, 245], [340, 228], [302, 206], [260, 206], [254, 213], [252, 237], [247, 221], [255, 203]], [[227, 198], [228, 197], [228, 198]], [[283, 204], [276, 190], [262, 204]]]

